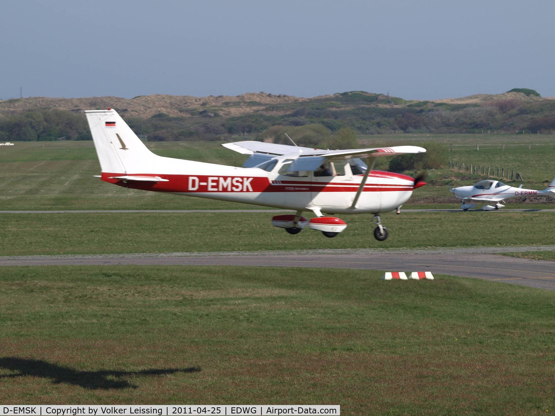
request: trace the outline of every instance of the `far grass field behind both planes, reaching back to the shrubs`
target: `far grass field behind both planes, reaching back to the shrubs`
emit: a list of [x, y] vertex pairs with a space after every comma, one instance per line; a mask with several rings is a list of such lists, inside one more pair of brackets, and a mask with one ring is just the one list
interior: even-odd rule
[[[437, 136], [435, 140], [447, 140], [446, 136]], [[468, 135], [448, 136], [448, 140], [460, 138], [465, 142]], [[391, 144], [396, 140], [395, 137], [373, 136], [372, 140], [376, 143], [371, 145]], [[217, 143], [153, 142], [147, 145], [162, 156], [237, 166], [245, 160], [245, 155], [225, 149]], [[455, 146], [452, 160], [492, 166], [500, 164], [518, 169], [526, 179], [526, 186], [543, 189], [546, 186], [544, 181], [551, 181], [555, 176], [553, 146], [537, 146], [533, 150], [521, 148], [507, 147], [503, 152], [498, 149], [476, 151]], [[0, 210], [259, 208], [255, 205], [129, 190], [93, 177], [99, 173], [100, 166], [92, 141], [18, 142], [8, 148], [4, 146], [0, 148]], [[420, 202], [426, 207], [456, 208], [460, 201], [452, 197], [449, 187], [473, 184], [482, 179], [480, 175], [459, 174], [447, 169], [431, 171], [430, 177], [436, 178], [433, 181], [435, 186], [428, 185], [416, 190], [405, 207]], [[521, 182], [513, 183], [518, 186]], [[552, 202], [548, 200], [533, 205], [537, 208], [553, 207], [555, 203]], [[529, 208], [531, 205], [513, 200], [507, 207]]]

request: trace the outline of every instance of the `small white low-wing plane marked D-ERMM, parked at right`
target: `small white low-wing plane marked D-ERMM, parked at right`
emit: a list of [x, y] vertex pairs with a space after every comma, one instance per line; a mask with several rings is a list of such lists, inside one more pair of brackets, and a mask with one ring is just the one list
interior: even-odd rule
[[463, 211], [476, 207], [476, 204], [471, 204], [469, 201], [495, 202], [495, 205], [485, 205], [482, 207], [484, 211], [491, 211], [504, 207], [504, 205], [499, 204], [499, 202], [506, 203], [504, 201], [506, 199], [538, 195], [555, 198], [555, 179], [553, 179], [551, 184], [543, 191], [522, 189], [522, 185], [516, 188], [495, 180], [480, 181], [474, 186], [459, 186], [457, 188], [451, 188], [450, 191], [455, 194], [456, 198], [462, 200], [461, 209]]

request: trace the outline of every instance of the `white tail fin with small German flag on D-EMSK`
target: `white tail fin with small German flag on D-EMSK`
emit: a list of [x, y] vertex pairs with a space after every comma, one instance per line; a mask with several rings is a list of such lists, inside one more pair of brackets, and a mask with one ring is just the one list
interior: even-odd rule
[[160, 156], [147, 149], [117, 111], [87, 110], [85, 114], [103, 173], [149, 173], [154, 168]]

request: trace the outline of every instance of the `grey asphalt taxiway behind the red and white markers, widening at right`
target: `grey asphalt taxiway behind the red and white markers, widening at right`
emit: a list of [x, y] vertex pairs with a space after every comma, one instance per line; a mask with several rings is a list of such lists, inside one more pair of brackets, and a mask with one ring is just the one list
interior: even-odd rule
[[555, 290], [555, 262], [495, 253], [553, 251], [555, 246], [423, 249], [337, 249], [251, 252], [130, 253], [3, 256], [0, 266], [187, 265], [320, 267], [387, 271], [431, 271]]

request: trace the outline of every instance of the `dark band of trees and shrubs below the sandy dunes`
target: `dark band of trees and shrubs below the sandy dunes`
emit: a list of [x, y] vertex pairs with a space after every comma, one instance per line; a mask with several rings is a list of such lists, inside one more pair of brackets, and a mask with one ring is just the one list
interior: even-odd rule
[[[513, 91], [539, 95], [529, 89]], [[384, 94], [355, 91], [306, 102], [268, 105], [234, 117], [221, 116], [218, 110], [221, 108], [188, 109], [183, 111], [187, 116], [158, 113], [149, 119], [121, 114], [135, 133], [145, 134], [151, 141], [228, 140], [230, 136], [244, 133], [265, 140], [276, 131], [296, 128], [300, 129], [295, 133], [301, 134], [295, 135], [306, 145], [325, 141], [327, 136], [343, 128], [357, 134], [555, 131], [555, 100], [504, 99], [481, 104], [448, 104], [405, 102]], [[82, 111], [34, 109], [0, 114], [0, 141], [62, 137], [91, 139]]]

